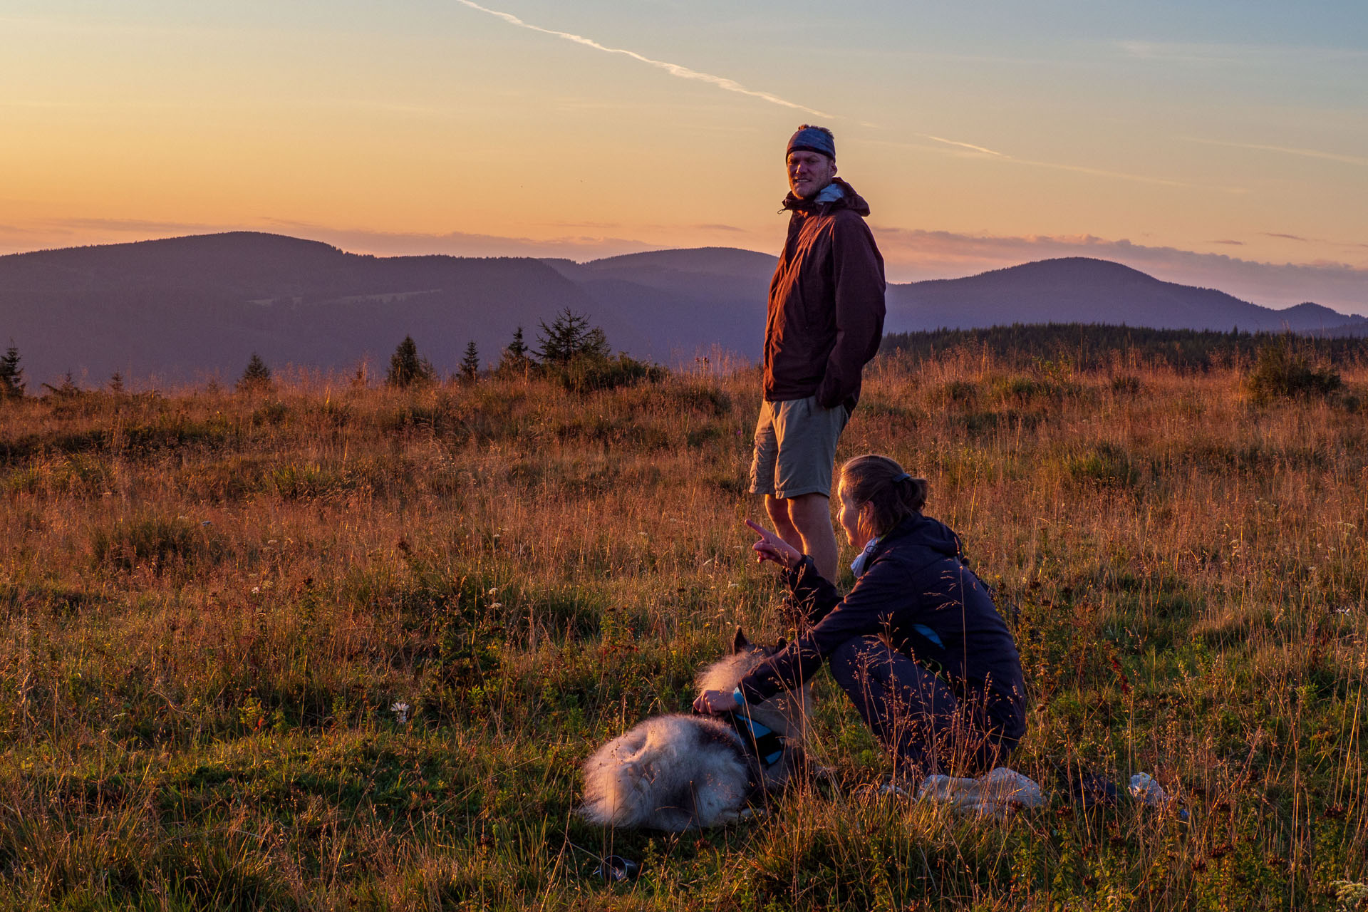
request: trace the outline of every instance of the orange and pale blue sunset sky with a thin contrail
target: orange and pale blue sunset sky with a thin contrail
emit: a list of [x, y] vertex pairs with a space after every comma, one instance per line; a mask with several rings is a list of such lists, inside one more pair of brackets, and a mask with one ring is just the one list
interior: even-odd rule
[[891, 279], [1083, 254], [1368, 313], [1361, 0], [959, 5], [5, 0], [0, 253], [777, 252], [813, 122]]

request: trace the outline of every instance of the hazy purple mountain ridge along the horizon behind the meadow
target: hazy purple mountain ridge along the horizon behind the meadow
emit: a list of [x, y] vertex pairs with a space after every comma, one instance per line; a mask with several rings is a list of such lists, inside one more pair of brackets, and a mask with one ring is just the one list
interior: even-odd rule
[[[714, 347], [758, 358], [776, 258], [733, 247], [657, 250], [591, 263], [373, 257], [260, 232], [196, 235], [0, 257], [0, 343], [14, 339], [30, 388], [67, 371], [233, 380], [268, 364], [383, 368], [412, 335], [454, 371], [473, 340], [487, 364], [513, 330], [587, 313], [610, 345], [666, 364]], [[1011, 323], [1360, 334], [1368, 319], [1315, 304], [1272, 310], [1161, 282], [1105, 260], [1027, 263], [963, 279], [891, 284], [885, 331]]]

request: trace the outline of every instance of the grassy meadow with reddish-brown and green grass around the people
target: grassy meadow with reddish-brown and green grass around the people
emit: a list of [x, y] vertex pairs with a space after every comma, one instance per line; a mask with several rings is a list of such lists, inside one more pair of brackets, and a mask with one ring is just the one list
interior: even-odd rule
[[[834, 779], [683, 837], [581, 823], [577, 766], [736, 623], [788, 633], [741, 526], [755, 371], [0, 402], [0, 908], [1368, 908], [1343, 380], [881, 357], [840, 457], [929, 479], [1019, 610], [1051, 804], [877, 797], [824, 673]], [[1064, 768], [1178, 801], [1085, 811]]]

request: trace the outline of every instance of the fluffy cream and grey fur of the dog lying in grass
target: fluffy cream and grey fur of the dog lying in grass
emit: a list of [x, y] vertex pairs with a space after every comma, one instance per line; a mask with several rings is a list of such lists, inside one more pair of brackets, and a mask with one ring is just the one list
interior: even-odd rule
[[[737, 628], [731, 655], [698, 675], [699, 693], [729, 693], [778, 648], [751, 645]], [[782, 740], [782, 753], [773, 766], [757, 764], [748, 740], [724, 721], [662, 715], [613, 738], [586, 760], [580, 814], [602, 826], [672, 831], [736, 820], [752, 793], [782, 789], [802, 763], [808, 688], [800, 695], [778, 695], [748, 711], [751, 719]], [[754, 782], [757, 766], [761, 782]]]

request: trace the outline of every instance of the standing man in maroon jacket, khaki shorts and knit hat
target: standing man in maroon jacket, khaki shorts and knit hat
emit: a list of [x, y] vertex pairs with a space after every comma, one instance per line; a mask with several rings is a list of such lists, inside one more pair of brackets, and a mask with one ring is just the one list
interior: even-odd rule
[[778, 536], [836, 580], [832, 466], [884, 332], [884, 257], [869, 205], [836, 176], [836, 137], [803, 124], [788, 141], [788, 239], [770, 280], [765, 402], [751, 494]]

